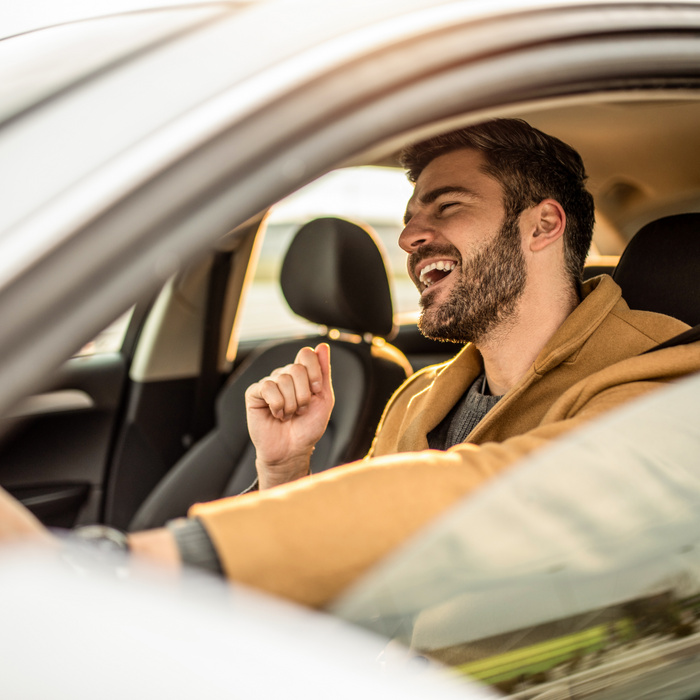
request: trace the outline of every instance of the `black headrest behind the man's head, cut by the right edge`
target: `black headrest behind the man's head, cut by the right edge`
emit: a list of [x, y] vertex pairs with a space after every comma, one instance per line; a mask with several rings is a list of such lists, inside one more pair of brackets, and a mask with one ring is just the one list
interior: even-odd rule
[[644, 226], [625, 248], [613, 279], [632, 309], [700, 323], [700, 214]]

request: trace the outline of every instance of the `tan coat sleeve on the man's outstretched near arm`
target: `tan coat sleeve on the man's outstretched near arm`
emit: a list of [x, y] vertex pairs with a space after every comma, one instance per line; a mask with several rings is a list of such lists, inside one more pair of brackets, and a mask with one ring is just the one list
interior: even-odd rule
[[[697, 368], [698, 353], [693, 363]], [[682, 373], [682, 372], [681, 372]], [[653, 372], [652, 372], [653, 374]], [[191, 508], [234, 581], [323, 606], [423, 526], [525, 455], [668, 377], [572, 387], [537, 428], [501, 443], [367, 459]], [[606, 385], [607, 381], [607, 385]]]

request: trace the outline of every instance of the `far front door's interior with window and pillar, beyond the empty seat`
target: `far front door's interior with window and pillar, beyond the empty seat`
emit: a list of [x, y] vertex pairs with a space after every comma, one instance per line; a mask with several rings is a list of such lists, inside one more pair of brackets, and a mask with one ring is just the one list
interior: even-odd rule
[[264, 217], [174, 274], [10, 414], [0, 485], [45, 524], [135, 511], [215, 421], [233, 366], [231, 334]]

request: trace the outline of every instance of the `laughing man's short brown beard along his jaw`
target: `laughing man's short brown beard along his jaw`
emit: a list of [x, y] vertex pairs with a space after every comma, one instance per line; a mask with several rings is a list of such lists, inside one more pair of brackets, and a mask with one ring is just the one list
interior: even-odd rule
[[[421, 257], [434, 254], [427, 248]], [[450, 274], [458, 277], [446, 301], [435, 301], [430, 292], [421, 297], [418, 328], [433, 340], [478, 345], [514, 316], [525, 289], [518, 217], [506, 219], [493, 241], [469, 260], [463, 259]]]

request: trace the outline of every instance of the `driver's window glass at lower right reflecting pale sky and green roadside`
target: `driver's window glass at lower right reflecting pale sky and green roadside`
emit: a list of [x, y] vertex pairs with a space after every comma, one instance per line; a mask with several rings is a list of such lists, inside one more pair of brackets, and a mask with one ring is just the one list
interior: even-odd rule
[[698, 397], [695, 375], [534, 455], [335, 612], [522, 700], [698, 697]]

